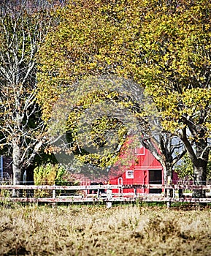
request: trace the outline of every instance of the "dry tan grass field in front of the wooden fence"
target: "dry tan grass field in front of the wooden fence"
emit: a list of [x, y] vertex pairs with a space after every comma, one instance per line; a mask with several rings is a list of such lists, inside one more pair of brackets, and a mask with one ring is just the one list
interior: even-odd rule
[[0, 255], [211, 255], [211, 210], [1, 206]]

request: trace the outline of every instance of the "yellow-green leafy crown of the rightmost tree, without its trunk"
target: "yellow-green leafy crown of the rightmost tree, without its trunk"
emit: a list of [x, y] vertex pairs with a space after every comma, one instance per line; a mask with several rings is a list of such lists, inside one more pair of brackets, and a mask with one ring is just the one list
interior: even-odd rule
[[197, 123], [210, 105], [205, 75], [210, 73], [210, 3], [205, 2], [191, 8], [180, 4], [174, 12], [170, 12], [171, 6], [166, 9], [158, 1], [148, 2], [142, 22], [139, 45], [146, 59], [140, 80], [171, 132], [180, 129], [182, 116]]

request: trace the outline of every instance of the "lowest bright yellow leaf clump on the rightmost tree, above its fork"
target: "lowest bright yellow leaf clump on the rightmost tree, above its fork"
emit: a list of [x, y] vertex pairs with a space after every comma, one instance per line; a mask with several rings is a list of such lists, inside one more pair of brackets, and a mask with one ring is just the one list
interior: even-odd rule
[[[207, 89], [184, 89], [182, 94], [169, 93], [166, 97], [160, 97], [156, 101], [156, 105], [163, 109], [161, 111], [162, 127], [175, 132], [185, 127], [182, 119], [183, 117], [198, 123], [207, 111], [207, 106], [211, 103], [210, 90]], [[204, 117], [205, 118], [205, 117]], [[208, 110], [207, 117], [204, 119], [210, 120], [210, 112]], [[204, 122], [204, 127], [210, 130], [210, 123]]]

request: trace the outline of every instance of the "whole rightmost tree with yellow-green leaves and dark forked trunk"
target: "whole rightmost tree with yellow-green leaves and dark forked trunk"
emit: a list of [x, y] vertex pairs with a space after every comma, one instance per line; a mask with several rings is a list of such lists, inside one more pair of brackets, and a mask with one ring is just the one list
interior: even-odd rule
[[145, 1], [139, 37], [141, 83], [164, 129], [183, 141], [197, 185], [206, 184], [210, 151], [210, 7], [205, 0]]

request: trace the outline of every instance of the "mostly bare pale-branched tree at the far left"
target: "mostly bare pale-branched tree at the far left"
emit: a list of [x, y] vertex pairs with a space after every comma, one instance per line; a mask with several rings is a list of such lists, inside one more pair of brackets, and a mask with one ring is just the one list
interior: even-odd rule
[[45, 142], [36, 99], [37, 52], [50, 20], [47, 1], [1, 1], [0, 145], [12, 155], [14, 185], [21, 184], [24, 170]]

